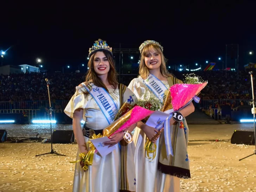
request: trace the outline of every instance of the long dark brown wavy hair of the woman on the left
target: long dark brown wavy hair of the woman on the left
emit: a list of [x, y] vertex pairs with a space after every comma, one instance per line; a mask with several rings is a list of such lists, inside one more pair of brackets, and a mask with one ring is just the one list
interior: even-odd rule
[[[105, 50], [100, 50], [100, 51], [104, 53], [104, 55], [107, 57], [109, 62], [108, 82], [110, 85], [112, 85], [116, 89], [118, 85], [118, 81], [117, 81], [117, 72], [115, 70], [115, 65], [114, 65], [114, 59], [111, 53], [109, 53], [108, 51], [105, 51]], [[107, 87], [104, 85], [104, 83], [101, 81], [101, 78], [98, 77], [97, 73], [94, 70], [93, 62], [94, 62], [95, 53], [96, 52], [92, 53], [88, 61], [89, 71], [87, 73], [87, 76], [85, 77], [85, 82], [87, 82], [88, 84], [90, 81], [92, 81], [97, 87], [102, 87], [106, 91], [108, 91]]]

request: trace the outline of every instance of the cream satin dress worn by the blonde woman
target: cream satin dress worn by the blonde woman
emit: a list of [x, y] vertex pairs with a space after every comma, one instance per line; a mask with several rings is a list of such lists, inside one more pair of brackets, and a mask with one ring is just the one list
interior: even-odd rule
[[[169, 87], [167, 81], [162, 81], [162, 83]], [[143, 83], [141, 77], [133, 79], [128, 88], [140, 100], [148, 100], [149, 97], [155, 97], [153, 92]], [[136, 127], [133, 135], [135, 144], [134, 164], [137, 179], [136, 192], [179, 192], [180, 178], [158, 171], [158, 160], [161, 146], [164, 144], [164, 134], [161, 134], [156, 141], [156, 156], [153, 161], [145, 156], [144, 146], [146, 139], [146, 134]]]

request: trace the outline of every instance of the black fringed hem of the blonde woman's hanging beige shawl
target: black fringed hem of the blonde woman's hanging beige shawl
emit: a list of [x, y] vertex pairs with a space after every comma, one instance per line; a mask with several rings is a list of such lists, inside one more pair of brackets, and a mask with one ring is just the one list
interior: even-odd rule
[[164, 165], [158, 162], [158, 171], [172, 175], [181, 179], [190, 179], [190, 170], [189, 169], [184, 169], [181, 167], [174, 167], [174, 166], [169, 166], [169, 165]]

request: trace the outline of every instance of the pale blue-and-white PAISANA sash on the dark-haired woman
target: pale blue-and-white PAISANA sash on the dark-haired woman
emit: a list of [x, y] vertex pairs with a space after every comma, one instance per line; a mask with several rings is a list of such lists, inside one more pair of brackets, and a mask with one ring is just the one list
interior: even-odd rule
[[84, 86], [84, 88], [91, 94], [108, 123], [111, 124], [118, 112], [117, 104], [104, 88], [97, 87], [93, 83], [90, 83], [89, 86], [91, 87], [91, 90], [89, 90], [87, 86]]

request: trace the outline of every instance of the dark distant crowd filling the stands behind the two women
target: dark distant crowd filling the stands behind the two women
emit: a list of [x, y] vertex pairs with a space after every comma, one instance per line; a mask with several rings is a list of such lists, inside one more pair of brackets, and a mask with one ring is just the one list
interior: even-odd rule
[[[248, 100], [251, 98], [251, 81], [246, 71], [224, 73], [222, 71], [196, 71], [195, 73], [208, 81], [207, 86], [200, 93], [202, 100]], [[184, 77], [183, 73], [178, 71], [174, 71], [174, 75], [180, 79]], [[135, 77], [136, 75], [123, 75], [121, 83], [128, 85]], [[0, 99], [1, 101], [47, 100], [45, 78], [48, 78], [50, 82], [52, 100], [69, 100], [75, 92], [74, 87], [83, 82], [84, 74], [41, 72], [0, 75]]]

